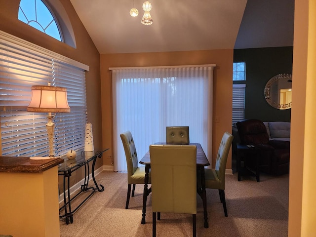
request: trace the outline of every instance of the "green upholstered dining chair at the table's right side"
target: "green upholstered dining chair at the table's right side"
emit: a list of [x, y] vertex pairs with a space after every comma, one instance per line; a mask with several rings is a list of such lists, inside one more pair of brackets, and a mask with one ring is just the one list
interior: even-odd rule
[[218, 189], [219, 197], [223, 203], [225, 216], [227, 215], [226, 200], [225, 200], [225, 170], [229, 150], [232, 146], [234, 136], [229, 132], [225, 132], [221, 144], [219, 145], [215, 169], [205, 170], [205, 188]]

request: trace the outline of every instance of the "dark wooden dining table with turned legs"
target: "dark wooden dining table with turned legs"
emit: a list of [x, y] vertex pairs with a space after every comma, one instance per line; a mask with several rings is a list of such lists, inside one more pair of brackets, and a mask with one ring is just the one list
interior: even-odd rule
[[[158, 142], [158, 143], [155, 143], [155, 145], [170, 145], [170, 143]], [[184, 145], [184, 144], [172, 143], [172, 145]], [[197, 194], [202, 198], [202, 202], [203, 202], [204, 228], [208, 228], [204, 166], [208, 166], [208, 165], [210, 165], [210, 163], [209, 163], [207, 157], [205, 156], [205, 153], [204, 153], [204, 151], [199, 143], [187, 143], [185, 145], [194, 145], [197, 147], [197, 174], [200, 176], [200, 177], [198, 177], [200, 179], [200, 185], [197, 184]], [[149, 151], [144, 155], [144, 157], [139, 161], [139, 163], [145, 165], [143, 214], [142, 214], [142, 222], [141, 222], [142, 224], [145, 224], [146, 223], [145, 216], [146, 216], [147, 197], [152, 192], [152, 189], [148, 188], [149, 171], [150, 171], [150, 167], [151, 167]]]

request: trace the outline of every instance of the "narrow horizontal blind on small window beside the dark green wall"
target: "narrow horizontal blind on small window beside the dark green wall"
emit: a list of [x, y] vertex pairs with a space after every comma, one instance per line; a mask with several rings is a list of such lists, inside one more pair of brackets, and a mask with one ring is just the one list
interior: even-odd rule
[[233, 84], [233, 124], [245, 118], [246, 84]]

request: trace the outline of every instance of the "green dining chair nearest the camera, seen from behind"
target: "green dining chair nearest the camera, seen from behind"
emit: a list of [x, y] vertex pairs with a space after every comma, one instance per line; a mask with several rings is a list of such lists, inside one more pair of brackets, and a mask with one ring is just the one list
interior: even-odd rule
[[151, 145], [153, 237], [156, 213], [193, 215], [193, 236], [197, 232], [197, 147], [191, 145]]

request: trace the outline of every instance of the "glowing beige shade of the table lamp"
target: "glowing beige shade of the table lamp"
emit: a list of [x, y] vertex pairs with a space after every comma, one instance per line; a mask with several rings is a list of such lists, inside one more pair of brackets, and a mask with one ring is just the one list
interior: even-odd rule
[[67, 113], [67, 89], [58, 86], [33, 85], [32, 99], [27, 108], [29, 112]]

